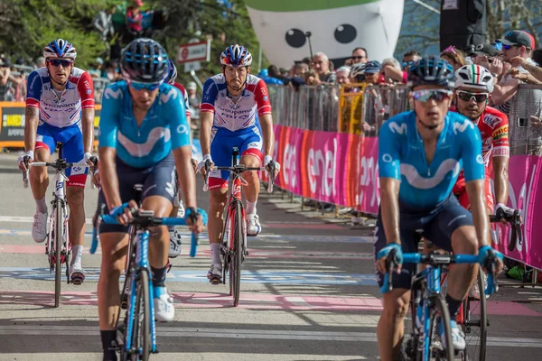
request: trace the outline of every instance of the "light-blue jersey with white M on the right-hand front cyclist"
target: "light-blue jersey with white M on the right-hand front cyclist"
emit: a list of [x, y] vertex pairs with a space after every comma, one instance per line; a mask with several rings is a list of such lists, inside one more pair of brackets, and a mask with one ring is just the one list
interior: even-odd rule
[[446, 115], [431, 164], [413, 111], [391, 117], [380, 129], [379, 177], [401, 180], [399, 199], [407, 205], [431, 208], [447, 199], [462, 166], [466, 181], [484, 179], [480, 131], [460, 114]]

